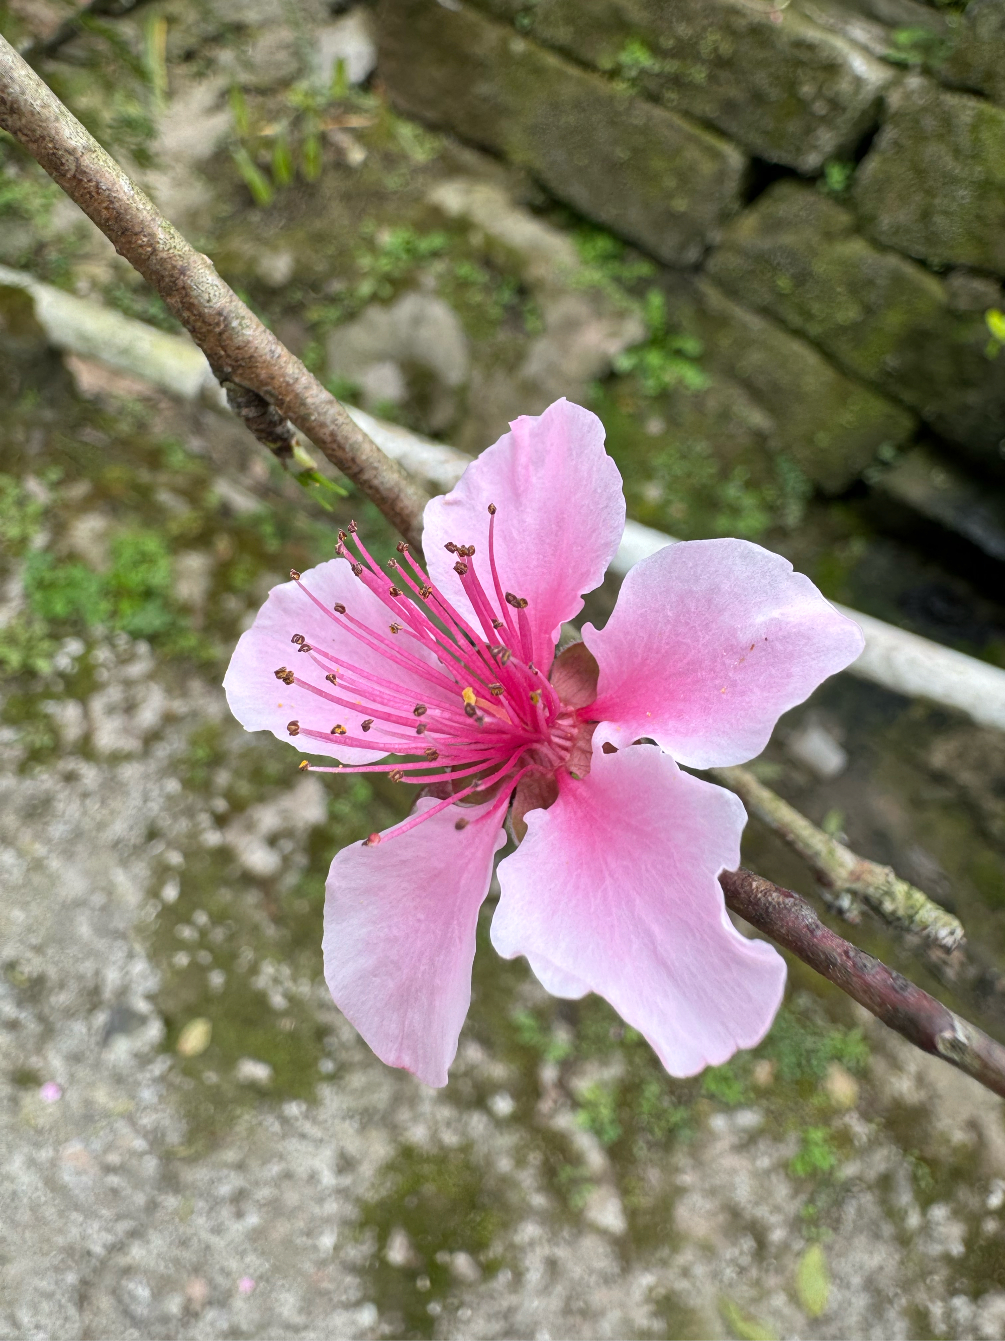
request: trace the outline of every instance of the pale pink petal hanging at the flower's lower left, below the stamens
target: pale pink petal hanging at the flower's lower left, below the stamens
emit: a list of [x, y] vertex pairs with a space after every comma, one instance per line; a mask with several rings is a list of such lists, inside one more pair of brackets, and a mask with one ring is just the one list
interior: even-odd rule
[[[434, 805], [425, 797], [415, 811]], [[474, 927], [505, 842], [490, 810], [449, 806], [401, 837], [390, 829], [375, 848], [343, 848], [328, 873], [324, 978], [335, 1004], [381, 1061], [426, 1085], [446, 1085], [470, 1004]]]

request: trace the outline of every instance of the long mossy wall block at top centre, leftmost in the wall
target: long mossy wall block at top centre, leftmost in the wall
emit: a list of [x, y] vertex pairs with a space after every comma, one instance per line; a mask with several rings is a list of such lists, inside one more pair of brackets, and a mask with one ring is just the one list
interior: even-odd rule
[[736, 146], [460, 0], [386, 0], [378, 40], [399, 107], [504, 154], [670, 266], [697, 261], [738, 208]]

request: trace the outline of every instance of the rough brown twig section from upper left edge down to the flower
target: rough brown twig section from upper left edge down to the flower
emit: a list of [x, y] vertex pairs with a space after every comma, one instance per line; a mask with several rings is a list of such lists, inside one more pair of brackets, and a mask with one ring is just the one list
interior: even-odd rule
[[269, 451], [276, 449], [280, 420], [289, 420], [418, 547], [426, 504], [422, 489], [356, 428], [335, 397], [228, 288], [209, 257], [185, 241], [1, 36], [0, 127], [24, 145], [157, 290], [220, 382], [251, 393], [243, 397], [244, 420], [253, 432], [264, 429]]

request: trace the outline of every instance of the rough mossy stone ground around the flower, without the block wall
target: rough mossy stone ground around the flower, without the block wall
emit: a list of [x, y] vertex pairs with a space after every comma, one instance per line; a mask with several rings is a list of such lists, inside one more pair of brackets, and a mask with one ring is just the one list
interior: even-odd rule
[[[651, 270], [587, 233], [584, 279], [575, 220], [484, 196], [481, 223], [458, 213], [458, 174], [512, 178], [374, 102], [319, 182], [252, 209], [225, 90], [240, 78], [263, 118], [285, 106], [300, 30], [251, 3], [169, 12], [147, 180], [315, 366], [362, 322], [373, 358], [351, 371], [371, 404], [477, 449], [509, 412], [586, 396], [638, 342], [618, 286]], [[328, 32], [320, 7], [303, 15]], [[121, 31], [141, 50], [138, 25]], [[64, 91], [86, 102], [78, 74]], [[111, 121], [127, 157], [135, 118]], [[162, 319], [76, 227], [43, 211], [21, 241], [7, 231], [4, 259]], [[409, 311], [450, 333], [437, 366], [419, 323], [381, 346], [381, 304], [414, 294], [429, 300]], [[610, 1011], [551, 1000], [482, 937], [449, 1088], [370, 1055], [320, 979], [323, 880], [406, 801], [300, 778], [297, 755], [229, 719], [218, 683], [264, 591], [327, 557], [334, 522], [355, 511], [378, 550], [390, 538], [359, 499], [323, 514], [208, 409], [79, 362], [71, 381], [9, 291], [0, 326], [0, 1336], [1005, 1337], [1002, 1104], [799, 967], [756, 1054], [670, 1082]], [[729, 447], [667, 445], [677, 410], [736, 440], [713, 413], [730, 385], [678, 373], [690, 390], [669, 400], [632, 373], [604, 384], [636, 515], [765, 536], [886, 617], [921, 593], [921, 632], [990, 644], [997, 606], [843, 504], [799, 480], [772, 493]], [[757, 767], [951, 901], [1002, 963], [1001, 738], [839, 679]], [[764, 833], [746, 860], [812, 892]], [[933, 986], [874, 927], [855, 936]]]

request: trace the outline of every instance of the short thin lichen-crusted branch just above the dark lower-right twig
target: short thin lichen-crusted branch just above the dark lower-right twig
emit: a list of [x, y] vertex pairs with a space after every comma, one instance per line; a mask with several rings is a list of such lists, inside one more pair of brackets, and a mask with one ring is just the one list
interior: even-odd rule
[[709, 775], [734, 791], [752, 815], [803, 858], [823, 885], [828, 904], [839, 912], [854, 911], [860, 900], [890, 927], [921, 936], [930, 945], [951, 951], [962, 944], [958, 917], [900, 880], [891, 866], [859, 857], [817, 829], [749, 768], [709, 768]]

